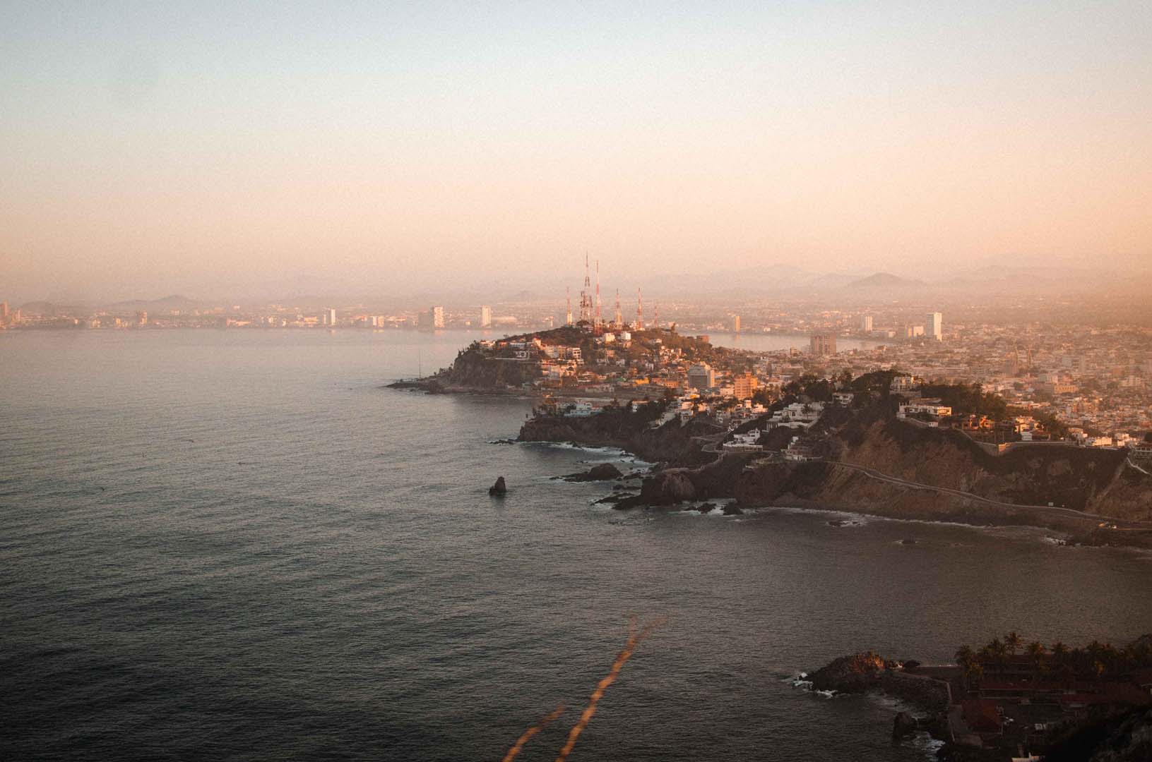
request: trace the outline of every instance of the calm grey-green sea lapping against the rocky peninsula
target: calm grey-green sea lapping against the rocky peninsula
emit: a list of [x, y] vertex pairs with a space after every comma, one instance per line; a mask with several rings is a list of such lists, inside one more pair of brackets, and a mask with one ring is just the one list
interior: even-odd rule
[[635, 615], [571, 760], [923, 760], [785, 678], [1152, 631], [1136, 553], [592, 505], [611, 454], [490, 443], [529, 402], [380, 388], [467, 338], [0, 334], [0, 759], [499, 760], [564, 702], [552, 760]]

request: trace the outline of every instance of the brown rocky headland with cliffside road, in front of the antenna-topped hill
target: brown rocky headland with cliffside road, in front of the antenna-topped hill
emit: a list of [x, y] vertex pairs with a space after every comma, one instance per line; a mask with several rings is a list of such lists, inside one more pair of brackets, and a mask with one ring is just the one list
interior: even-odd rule
[[1152, 478], [1122, 450], [1032, 444], [993, 454], [961, 432], [897, 420], [882, 405], [838, 417], [820, 434], [825, 457], [809, 462], [710, 451], [704, 443], [714, 427], [692, 419], [652, 428], [627, 407], [585, 418], [538, 414], [517, 439], [615, 447], [660, 464], [637, 495], [613, 501], [622, 509], [735, 498], [741, 509], [1037, 526], [1071, 544], [1152, 548]]

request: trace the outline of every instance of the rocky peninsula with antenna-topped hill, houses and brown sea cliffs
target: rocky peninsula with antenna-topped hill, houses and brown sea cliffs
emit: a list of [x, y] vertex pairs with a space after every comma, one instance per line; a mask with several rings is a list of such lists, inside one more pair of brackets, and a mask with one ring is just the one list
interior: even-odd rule
[[[613, 344], [615, 349], [608, 349]], [[596, 365], [581, 364], [579, 358], [592, 357]], [[895, 371], [857, 378], [803, 376], [779, 395], [763, 397], [759, 414], [749, 413], [751, 406], [743, 403], [737, 410], [748, 414], [738, 425], [712, 414], [730, 411], [735, 399], [710, 403], [708, 413], [696, 412], [688, 396], [677, 398], [670, 387], [654, 383], [667, 379], [651, 374], [624, 402], [605, 396], [574, 411], [573, 404], [552, 396], [570, 389], [591, 394], [594, 379], [606, 378], [582, 368], [606, 372], [611, 363], [660, 367], [661, 361], [683, 368], [706, 359], [733, 368], [746, 360], [711, 346], [705, 337], [669, 330], [621, 333], [609, 343], [606, 335], [586, 327], [564, 327], [473, 343], [450, 367], [391, 386], [430, 394], [541, 398], [517, 441], [612, 447], [658, 464], [637, 493], [612, 496], [608, 502], [620, 509], [728, 498], [740, 510], [813, 508], [979, 526], [1037, 526], [1052, 529], [1060, 542], [1152, 548], [1152, 474], [1134, 464], [1128, 450], [1058, 441], [998, 447], [958, 428], [907, 418], [900, 412], [907, 396], [895, 391], [900, 375]], [[550, 373], [556, 374], [554, 381], [547, 381]], [[584, 375], [593, 381], [584, 383]], [[1003, 409], [1002, 401], [978, 387], [930, 387], [934, 394], [971, 402], [976, 410]], [[674, 402], [688, 405], [687, 414], [683, 406], [673, 410]], [[773, 424], [788, 409], [801, 409], [794, 414], [808, 418], [798, 426], [795, 419]], [[810, 416], [803, 412], [809, 410]], [[617, 477], [605, 472], [566, 478]]]

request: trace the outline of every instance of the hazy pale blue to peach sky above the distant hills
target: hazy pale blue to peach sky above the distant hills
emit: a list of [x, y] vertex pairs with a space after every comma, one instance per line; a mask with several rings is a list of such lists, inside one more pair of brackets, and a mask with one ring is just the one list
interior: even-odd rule
[[0, 6], [0, 299], [1152, 269], [1146, 0]]

